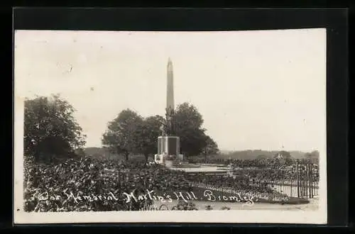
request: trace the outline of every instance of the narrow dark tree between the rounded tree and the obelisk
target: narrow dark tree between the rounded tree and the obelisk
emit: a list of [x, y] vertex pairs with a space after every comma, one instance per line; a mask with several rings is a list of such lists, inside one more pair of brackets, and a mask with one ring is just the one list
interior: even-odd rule
[[160, 127], [164, 122], [162, 116], [150, 116], [141, 122], [141, 137], [138, 139], [138, 152], [146, 157], [158, 151], [158, 136], [161, 133]]

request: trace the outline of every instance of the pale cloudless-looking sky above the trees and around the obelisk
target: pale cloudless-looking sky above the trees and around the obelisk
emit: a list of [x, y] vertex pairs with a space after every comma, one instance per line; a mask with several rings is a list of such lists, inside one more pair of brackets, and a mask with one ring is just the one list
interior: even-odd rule
[[164, 115], [166, 65], [175, 104], [197, 106], [221, 150], [319, 150], [325, 144], [326, 31], [104, 32], [19, 30], [15, 91], [60, 94], [87, 147], [125, 108]]

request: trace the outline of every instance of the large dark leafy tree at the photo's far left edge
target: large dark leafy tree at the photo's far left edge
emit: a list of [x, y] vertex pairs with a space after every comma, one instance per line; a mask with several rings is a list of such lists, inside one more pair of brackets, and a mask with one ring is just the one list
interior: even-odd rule
[[25, 101], [24, 155], [35, 160], [68, 157], [85, 144], [75, 120], [75, 109], [59, 95], [37, 96]]

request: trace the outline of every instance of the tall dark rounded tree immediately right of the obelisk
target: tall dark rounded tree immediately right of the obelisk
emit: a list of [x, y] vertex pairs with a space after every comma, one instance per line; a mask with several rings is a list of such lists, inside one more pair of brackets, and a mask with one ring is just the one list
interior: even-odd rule
[[181, 151], [187, 157], [200, 155], [207, 146], [202, 115], [192, 104], [181, 104], [175, 111], [175, 131], [180, 137]]

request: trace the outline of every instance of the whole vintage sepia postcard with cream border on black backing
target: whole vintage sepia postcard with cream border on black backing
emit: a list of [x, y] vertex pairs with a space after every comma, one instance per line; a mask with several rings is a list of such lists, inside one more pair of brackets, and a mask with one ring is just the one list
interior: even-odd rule
[[14, 32], [14, 223], [327, 223], [326, 30]]

